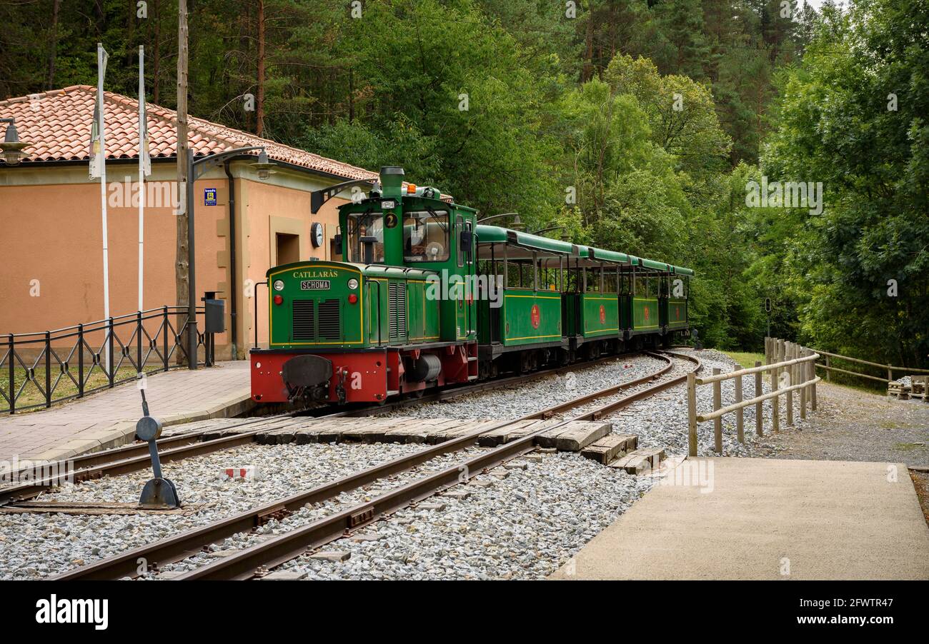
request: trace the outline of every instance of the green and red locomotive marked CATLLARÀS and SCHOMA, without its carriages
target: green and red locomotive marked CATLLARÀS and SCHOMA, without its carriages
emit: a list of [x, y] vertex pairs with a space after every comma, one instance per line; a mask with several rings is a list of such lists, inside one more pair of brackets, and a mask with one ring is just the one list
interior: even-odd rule
[[[268, 270], [268, 347], [251, 352], [255, 401], [383, 402], [477, 379], [465, 288], [476, 211], [402, 177], [383, 168], [368, 198], [339, 208], [344, 262]], [[313, 201], [318, 210], [323, 199]]]

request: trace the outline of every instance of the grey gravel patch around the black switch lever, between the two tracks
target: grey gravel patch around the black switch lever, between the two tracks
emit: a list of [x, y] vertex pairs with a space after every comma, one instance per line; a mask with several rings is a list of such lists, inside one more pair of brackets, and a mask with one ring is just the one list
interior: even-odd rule
[[[39, 579], [104, 559], [246, 509], [291, 496], [391, 458], [415, 444], [247, 445], [164, 465], [189, 514], [0, 515], [0, 579]], [[226, 479], [229, 467], [254, 465], [255, 481]], [[39, 497], [59, 502], [137, 502], [150, 470], [66, 484]]]

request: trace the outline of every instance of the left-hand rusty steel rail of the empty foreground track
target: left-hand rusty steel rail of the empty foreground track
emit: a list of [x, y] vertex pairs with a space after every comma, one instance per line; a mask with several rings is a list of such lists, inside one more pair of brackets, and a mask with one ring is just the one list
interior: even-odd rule
[[[662, 356], [663, 357], [663, 356]], [[664, 358], [667, 360], [667, 358]], [[642, 378], [623, 382], [618, 386], [611, 386], [602, 390], [601, 395], [615, 393], [618, 388], [635, 387], [636, 385], [653, 380], [656, 375], [660, 375], [671, 367], [669, 365], [662, 367], [659, 372], [648, 374]], [[582, 396], [582, 399], [589, 400], [595, 397], [595, 394]], [[88, 563], [85, 566], [76, 568], [66, 573], [60, 573], [52, 577], [55, 580], [87, 580], [87, 579], [118, 579], [124, 576], [136, 576], [139, 567], [138, 560], [144, 560], [148, 566], [161, 565], [164, 563], [173, 563], [183, 560], [197, 552], [202, 551], [203, 547], [221, 541], [231, 535], [247, 532], [255, 527], [267, 522], [270, 518], [281, 519], [286, 515], [294, 512], [303, 506], [338, 496], [343, 492], [354, 490], [367, 483], [372, 483], [393, 474], [410, 470], [434, 457], [460, 451], [474, 444], [481, 434], [488, 431], [501, 429], [512, 425], [520, 420], [541, 419], [543, 413], [550, 410], [545, 409], [538, 412], [526, 414], [519, 419], [504, 420], [490, 426], [478, 428], [475, 431], [468, 432], [459, 438], [431, 445], [423, 450], [414, 452], [405, 457], [398, 457], [393, 460], [373, 466], [366, 470], [360, 470], [346, 477], [340, 478], [331, 483], [324, 483], [310, 490], [300, 492], [294, 496], [284, 499], [277, 499], [267, 503], [259, 508], [244, 510], [239, 514], [233, 515], [217, 522], [209, 523], [205, 526], [193, 528], [178, 535], [172, 535], [159, 541], [137, 547], [108, 559], [98, 560]], [[565, 420], [556, 425], [560, 426], [569, 422]], [[543, 431], [550, 431], [552, 427], [546, 427]], [[533, 438], [541, 431], [530, 434]], [[510, 444], [507, 444], [510, 445]], [[506, 446], [506, 445], [504, 445]], [[530, 443], [531, 448], [531, 443]], [[457, 471], [457, 470], [456, 470]], [[428, 495], [427, 495], [428, 496]], [[367, 524], [367, 522], [365, 522]], [[343, 524], [342, 530], [344, 531]]]

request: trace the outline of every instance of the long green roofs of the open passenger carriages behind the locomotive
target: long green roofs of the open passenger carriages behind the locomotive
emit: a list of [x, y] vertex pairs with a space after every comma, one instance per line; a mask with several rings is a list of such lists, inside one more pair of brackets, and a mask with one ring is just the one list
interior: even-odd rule
[[[569, 257], [579, 265], [598, 266], [602, 263], [621, 264], [628, 266], [641, 266], [662, 273], [672, 273], [674, 275], [694, 275], [693, 270], [683, 266], [674, 266], [664, 262], [656, 262], [645, 257], [636, 257], [627, 255], [624, 252], [608, 251], [593, 246], [584, 246], [582, 244], [571, 244], [560, 239], [532, 235], [519, 230], [512, 230], [498, 225], [478, 224], [478, 257], [489, 259], [490, 252], [481, 252], [480, 245], [490, 244], [509, 244], [507, 257], [509, 259], [530, 259], [532, 252], [536, 252], [539, 257]], [[520, 252], [520, 250], [522, 251]]]

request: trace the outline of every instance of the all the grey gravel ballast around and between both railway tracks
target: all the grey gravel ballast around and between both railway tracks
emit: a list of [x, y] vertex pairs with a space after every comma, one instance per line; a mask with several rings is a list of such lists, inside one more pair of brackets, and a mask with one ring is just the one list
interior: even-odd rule
[[[724, 354], [700, 352], [704, 373], [712, 367], [735, 368]], [[592, 393], [610, 385], [653, 373], [664, 362], [647, 355], [622, 356], [595, 367], [546, 376], [519, 387], [473, 394], [448, 402], [405, 407], [388, 416], [415, 418], [516, 419], [524, 414]], [[692, 368], [676, 360], [663, 379]], [[640, 385], [644, 387], [647, 385]], [[753, 395], [753, 380], [744, 395]], [[611, 398], [627, 395], [625, 390]], [[685, 387], [676, 386], [639, 401], [610, 420], [614, 431], [635, 433], [642, 447], [666, 447], [668, 454], [687, 453]], [[700, 408], [708, 409], [712, 388], [700, 388]], [[766, 390], [765, 390], [766, 391]], [[723, 404], [732, 402], [732, 384], [723, 384]], [[610, 399], [611, 399], [610, 398]], [[599, 404], [606, 402], [597, 401]], [[784, 417], [782, 416], [782, 419]], [[799, 415], [798, 415], [799, 418]], [[734, 419], [726, 427], [724, 454], [744, 456], [750, 447], [735, 440]], [[753, 436], [753, 409], [745, 414], [746, 441]], [[180, 429], [180, 428], [178, 428]], [[297, 490], [332, 481], [390, 458], [422, 449], [418, 444], [281, 444], [247, 445], [227, 452], [191, 458], [165, 466], [190, 512], [181, 515], [69, 516], [18, 514], [0, 516], [0, 578], [35, 579], [83, 565], [177, 534]], [[713, 423], [700, 426], [700, 454], [713, 449]], [[449, 467], [478, 448], [439, 457], [414, 473], [404, 473], [374, 486], [348, 492], [315, 507], [306, 507], [281, 522], [271, 521], [255, 534], [235, 535], [164, 571], [186, 571], [248, 547], [296, 526], [319, 519], [349, 504], [370, 500], [427, 471]], [[341, 539], [326, 550], [346, 550], [348, 560], [302, 558], [284, 569], [312, 579], [536, 579], [552, 573], [600, 530], [643, 495], [655, 479], [635, 477], [604, 467], [578, 454], [534, 453], [526, 469], [498, 468], [507, 475], [478, 475], [478, 483], [455, 486], [467, 498], [436, 496], [403, 509], [362, 532], [364, 538]], [[255, 465], [255, 481], [224, 480], [227, 467]], [[43, 500], [134, 502], [150, 472], [65, 486]], [[486, 483], [484, 483], [486, 482]], [[484, 486], [487, 485], [487, 486]], [[443, 509], [426, 509], [431, 502]], [[157, 575], [146, 575], [156, 577]]]

